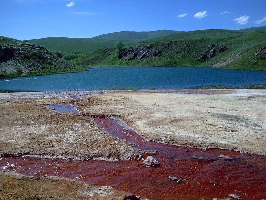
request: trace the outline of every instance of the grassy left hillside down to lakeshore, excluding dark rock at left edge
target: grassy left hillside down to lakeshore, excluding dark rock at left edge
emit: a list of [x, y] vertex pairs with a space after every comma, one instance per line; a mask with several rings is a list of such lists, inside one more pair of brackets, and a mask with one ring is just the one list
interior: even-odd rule
[[[2, 45], [11, 46], [18, 55], [14, 55], [13, 58], [8, 61], [0, 62], [1, 78], [72, 73], [84, 71], [89, 68], [88, 66], [81, 65], [74, 66], [63, 59], [58, 58], [55, 54], [43, 47], [31, 46], [20, 40], [0, 36], [0, 46]], [[28, 52], [31, 52], [32, 55], [25, 58], [25, 54], [28, 54]], [[47, 57], [47, 59], [44, 59], [45, 57]], [[14, 69], [11, 70], [11, 72], [6, 72], [6, 69], [12, 68]]]

